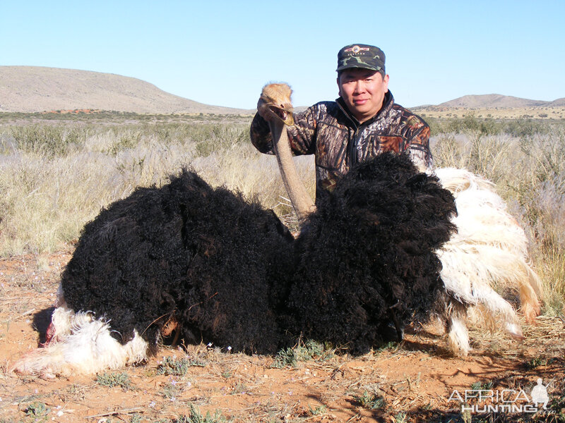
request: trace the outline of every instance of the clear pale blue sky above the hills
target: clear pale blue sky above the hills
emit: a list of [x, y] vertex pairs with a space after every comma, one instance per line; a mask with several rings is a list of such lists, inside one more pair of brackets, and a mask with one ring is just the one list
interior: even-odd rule
[[405, 106], [465, 94], [565, 97], [565, 0], [8, 1], [0, 65], [131, 76], [253, 109], [289, 82], [297, 106], [335, 99], [337, 52], [374, 44]]

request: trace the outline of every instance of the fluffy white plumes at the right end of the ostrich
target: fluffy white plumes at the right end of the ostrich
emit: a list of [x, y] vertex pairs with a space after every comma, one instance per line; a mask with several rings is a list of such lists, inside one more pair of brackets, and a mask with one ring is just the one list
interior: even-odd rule
[[[453, 193], [458, 210], [453, 219], [458, 233], [437, 252], [446, 290], [468, 307], [480, 307], [487, 319], [500, 321], [502, 329], [521, 338], [515, 310], [493, 287], [517, 288], [526, 319], [540, 313], [543, 290], [529, 263], [528, 238], [506, 212], [493, 183], [465, 169], [439, 168], [435, 173], [441, 185]], [[464, 351], [462, 338], [468, 336], [460, 325], [464, 326], [463, 319], [452, 317], [448, 343], [457, 355]]]

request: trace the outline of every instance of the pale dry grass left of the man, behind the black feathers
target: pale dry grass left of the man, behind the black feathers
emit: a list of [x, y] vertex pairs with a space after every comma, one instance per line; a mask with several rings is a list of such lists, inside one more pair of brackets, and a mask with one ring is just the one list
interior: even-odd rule
[[[280, 215], [290, 212], [276, 161], [249, 145], [249, 125], [94, 125], [80, 132], [37, 123], [0, 127], [1, 256], [65, 249], [102, 207], [136, 187], [166, 183], [183, 166]], [[56, 152], [44, 142], [49, 134], [58, 140]], [[311, 158], [297, 163], [314, 195]]]

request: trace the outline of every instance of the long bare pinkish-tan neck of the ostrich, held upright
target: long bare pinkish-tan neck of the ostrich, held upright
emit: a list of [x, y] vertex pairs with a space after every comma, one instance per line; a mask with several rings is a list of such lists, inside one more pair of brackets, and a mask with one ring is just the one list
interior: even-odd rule
[[280, 176], [283, 178], [298, 221], [302, 225], [304, 219], [311, 212], [314, 212], [314, 202], [312, 202], [302, 180], [298, 177], [295, 162], [292, 161], [292, 152], [290, 152], [285, 124], [283, 122], [270, 122], [270, 133], [273, 135], [273, 151], [277, 157]]

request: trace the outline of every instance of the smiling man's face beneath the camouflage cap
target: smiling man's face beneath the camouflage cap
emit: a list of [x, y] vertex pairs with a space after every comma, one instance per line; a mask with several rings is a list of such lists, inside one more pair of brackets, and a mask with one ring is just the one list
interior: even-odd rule
[[340, 97], [359, 122], [377, 114], [388, 92], [388, 75], [363, 68], [345, 69], [338, 78]]

